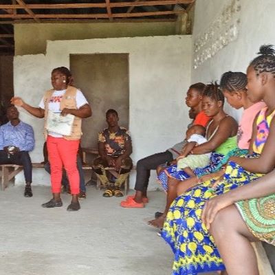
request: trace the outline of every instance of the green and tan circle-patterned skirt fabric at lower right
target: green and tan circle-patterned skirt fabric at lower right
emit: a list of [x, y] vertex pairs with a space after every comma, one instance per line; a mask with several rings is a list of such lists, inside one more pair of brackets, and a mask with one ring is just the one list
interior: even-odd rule
[[275, 194], [238, 201], [236, 206], [252, 234], [275, 245]]

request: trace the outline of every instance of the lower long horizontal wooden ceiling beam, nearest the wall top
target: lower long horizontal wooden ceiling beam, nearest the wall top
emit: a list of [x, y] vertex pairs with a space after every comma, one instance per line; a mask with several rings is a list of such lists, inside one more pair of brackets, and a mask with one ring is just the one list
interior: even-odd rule
[[[168, 14], [183, 14], [184, 10], [168, 10], [164, 12], [133, 12], [133, 13], [113, 13], [113, 18], [125, 17], [151, 17], [156, 15]], [[31, 14], [0, 14], [0, 18], [13, 18], [13, 19], [32, 19]], [[94, 18], [108, 18], [108, 14], [36, 14], [36, 19], [94, 19]]]

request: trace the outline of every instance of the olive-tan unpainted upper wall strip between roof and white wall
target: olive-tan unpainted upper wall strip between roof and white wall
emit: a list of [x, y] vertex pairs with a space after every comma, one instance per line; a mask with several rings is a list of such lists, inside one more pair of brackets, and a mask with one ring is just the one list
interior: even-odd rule
[[175, 24], [175, 22], [19, 23], [14, 24], [15, 55], [45, 54], [47, 40], [166, 36], [175, 34]]

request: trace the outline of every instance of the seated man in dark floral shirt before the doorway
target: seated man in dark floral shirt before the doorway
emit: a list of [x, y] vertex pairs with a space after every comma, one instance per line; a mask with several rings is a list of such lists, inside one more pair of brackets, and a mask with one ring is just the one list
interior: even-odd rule
[[[98, 179], [100, 179], [104, 188], [103, 197], [122, 197], [123, 193], [120, 186], [128, 177], [133, 166], [132, 159], [129, 157], [132, 153], [132, 142], [128, 131], [118, 126], [118, 113], [113, 109], [106, 112], [106, 121], [108, 128], [105, 128], [98, 134], [99, 157], [94, 160], [93, 169]], [[115, 179], [114, 187], [107, 177], [106, 167], [113, 167], [119, 176]]]

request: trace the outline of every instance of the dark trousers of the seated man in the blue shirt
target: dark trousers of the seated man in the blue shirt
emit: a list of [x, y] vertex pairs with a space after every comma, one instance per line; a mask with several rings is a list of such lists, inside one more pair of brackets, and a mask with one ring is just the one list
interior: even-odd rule
[[27, 151], [20, 151], [8, 157], [8, 153], [0, 150], [0, 164], [22, 165], [25, 182], [32, 183], [32, 161]]

